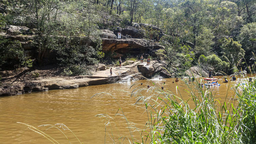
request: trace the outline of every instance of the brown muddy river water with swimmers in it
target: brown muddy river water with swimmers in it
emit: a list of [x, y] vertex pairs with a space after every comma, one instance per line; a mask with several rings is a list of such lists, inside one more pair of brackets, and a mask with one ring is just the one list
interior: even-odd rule
[[[159, 86], [163, 86], [164, 90], [169, 88], [174, 93], [176, 93], [176, 86], [178, 86], [183, 99], [188, 100], [191, 98], [186, 91], [188, 89], [187, 86], [181, 80], [175, 83], [174, 78], [162, 80], [155, 78], [152, 81]], [[166, 82], [166, 84], [162, 85], [161, 83], [163, 82]], [[135, 98], [130, 97], [130, 92], [133, 89], [130, 89], [130, 86], [133, 83], [144, 83], [142, 86], [145, 87], [148, 85], [148, 81], [140, 80], [136, 82], [87, 86], [77, 89], [50, 90], [47, 92], [32, 92], [18, 96], [0, 97], [0, 143], [51, 143], [42, 135], [16, 122], [32, 125], [47, 133], [60, 144], [68, 144], [69, 142], [58, 129], [50, 128], [46, 130], [49, 127], [38, 126], [43, 124], [65, 124], [84, 144], [118, 142], [117, 139], [120, 136], [128, 136], [130, 138], [125, 119], [122, 116], [115, 116], [119, 105], [123, 108], [127, 119], [136, 123], [137, 127], [143, 128], [146, 121], [148, 121], [144, 109], [132, 105], [136, 102]], [[223, 102], [226, 95], [228, 95], [226, 101], [230, 101], [230, 98], [234, 95], [234, 91], [230, 89], [229, 83], [220, 84], [221, 86], [211, 88], [215, 94], [215, 99]], [[98, 92], [111, 93], [115, 99], [111, 96], [91, 98], [91, 96]], [[188, 103], [193, 104], [194, 102], [190, 100]], [[233, 103], [236, 105], [237, 101], [233, 101]], [[115, 116], [116, 127], [114, 123], [111, 123], [105, 129], [104, 123], [106, 120], [96, 117], [97, 114]], [[114, 121], [111, 120], [110, 122]], [[71, 144], [79, 143], [69, 130], [65, 130], [64, 132]], [[114, 134], [114, 140], [111, 140], [112, 133]], [[133, 136], [135, 142], [141, 143], [141, 136], [138, 132], [133, 132]], [[121, 142], [129, 143], [127, 139]]]

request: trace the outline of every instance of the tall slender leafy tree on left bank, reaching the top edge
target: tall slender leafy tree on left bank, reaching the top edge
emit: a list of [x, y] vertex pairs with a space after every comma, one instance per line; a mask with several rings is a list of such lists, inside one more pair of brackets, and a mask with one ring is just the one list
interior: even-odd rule
[[20, 0], [21, 16], [37, 29], [34, 42], [38, 47], [37, 60], [40, 64], [43, 62], [46, 49], [54, 45], [52, 36], [58, 27], [59, 8], [59, 0]]

